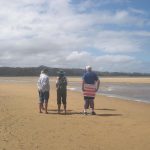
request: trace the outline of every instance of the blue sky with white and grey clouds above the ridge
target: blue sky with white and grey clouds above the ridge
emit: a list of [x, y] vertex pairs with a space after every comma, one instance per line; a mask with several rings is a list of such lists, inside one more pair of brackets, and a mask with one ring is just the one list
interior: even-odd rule
[[149, 0], [0, 0], [0, 66], [150, 73]]

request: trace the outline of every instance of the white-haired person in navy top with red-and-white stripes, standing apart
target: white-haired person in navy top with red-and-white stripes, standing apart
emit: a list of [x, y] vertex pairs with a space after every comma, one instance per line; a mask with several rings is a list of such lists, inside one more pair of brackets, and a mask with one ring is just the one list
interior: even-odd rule
[[100, 80], [91, 66], [86, 66], [86, 72], [83, 75], [82, 91], [84, 95], [84, 114], [87, 115], [87, 109], [92, 109], [91, 114], [96, 115], [94, 111], [95, 94], [100, 86]]

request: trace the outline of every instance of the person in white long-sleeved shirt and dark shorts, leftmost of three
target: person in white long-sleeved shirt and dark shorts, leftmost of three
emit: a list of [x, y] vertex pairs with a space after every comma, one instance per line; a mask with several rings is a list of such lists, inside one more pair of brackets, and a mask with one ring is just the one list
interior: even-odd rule
[[48, 77], [48, 69], [41, 71], [37, 82], [39, 91], [39, 113], [42, 113], [43, 104], [45, 104], [45, 113], [47, 114], [47, 106], [49, 100], [50, 83]]

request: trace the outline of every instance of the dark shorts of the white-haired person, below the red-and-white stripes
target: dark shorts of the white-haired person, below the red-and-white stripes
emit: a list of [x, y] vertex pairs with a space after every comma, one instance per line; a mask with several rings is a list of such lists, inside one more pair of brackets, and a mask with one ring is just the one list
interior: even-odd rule
[[84, 109], [90, 108], [94, 109], [94, 97], [84, 96]]

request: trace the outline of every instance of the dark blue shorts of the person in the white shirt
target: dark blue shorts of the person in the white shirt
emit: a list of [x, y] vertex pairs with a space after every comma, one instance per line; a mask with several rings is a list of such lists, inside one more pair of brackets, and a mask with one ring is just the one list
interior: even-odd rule
[[39, 103], [48, 103], [49, 100], [49, 91], [39, 91]]

